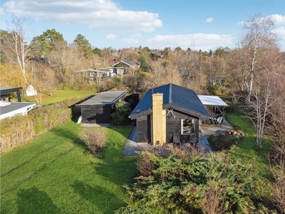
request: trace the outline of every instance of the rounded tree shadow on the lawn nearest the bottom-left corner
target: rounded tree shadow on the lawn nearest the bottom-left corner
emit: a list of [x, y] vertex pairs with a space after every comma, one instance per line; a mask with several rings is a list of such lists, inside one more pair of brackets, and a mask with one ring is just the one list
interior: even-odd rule
[[61, 209], [53, 204], [47, 193], [38, 190], [35, 186], [26, 190], [19, 190], [16, 204], [18, 205], [18, 213], [21, 214], [52, 214], [61, 211]]

